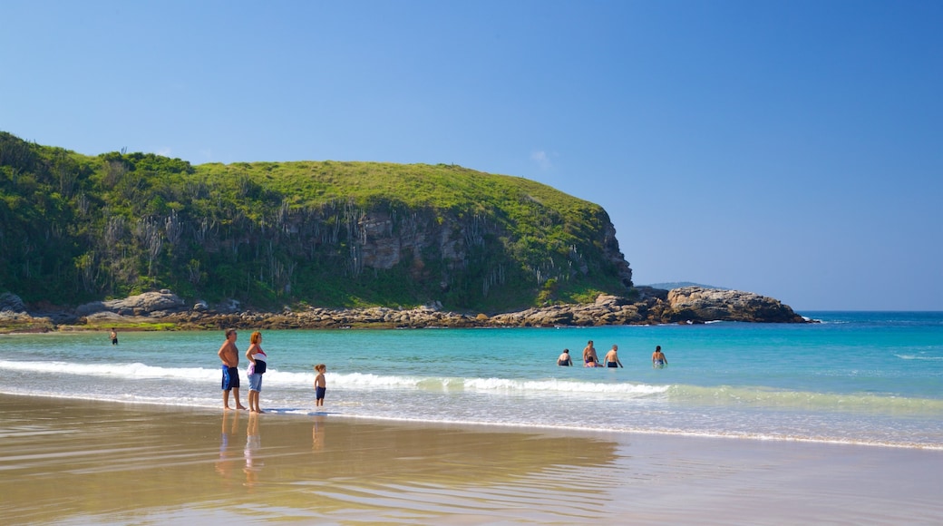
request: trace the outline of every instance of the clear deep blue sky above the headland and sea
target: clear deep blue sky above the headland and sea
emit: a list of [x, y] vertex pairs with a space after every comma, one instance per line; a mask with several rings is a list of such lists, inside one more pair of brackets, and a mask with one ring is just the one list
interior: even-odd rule
[[943, 2], [0, 2], [0, 130], [455, 163], [603, 205], [638, 285], [943, 310]]

